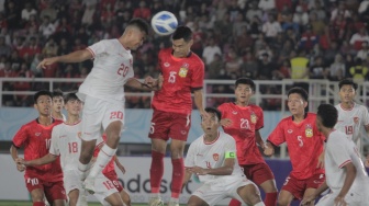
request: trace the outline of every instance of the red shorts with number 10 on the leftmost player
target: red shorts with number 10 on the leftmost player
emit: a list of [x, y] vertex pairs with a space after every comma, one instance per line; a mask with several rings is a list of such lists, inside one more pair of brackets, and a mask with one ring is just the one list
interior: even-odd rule
[[45, 197], [49, 202], [54, 202], [56, 199], [67, 199], [63, 181], [46, 182], [38, 178], [31, 178], [31, 176], [24, 179], [25, 179], [25, 186], [30, 193], [35, 188], [41, 188], [44, 191]]

